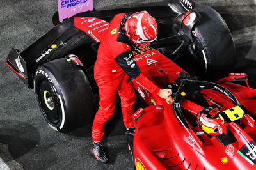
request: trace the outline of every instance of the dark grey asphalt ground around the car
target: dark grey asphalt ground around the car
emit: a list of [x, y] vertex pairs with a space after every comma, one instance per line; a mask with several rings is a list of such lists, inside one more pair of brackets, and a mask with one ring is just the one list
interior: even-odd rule
[[[168, 1], [94, 1], [96, 10], [167, 4]], [[226, 20], [237, 49], [236, 71], [255, 84], [256, 1], [198, 0]], [[52, 130], [42, 117], [33, 90], [4, 64], [10, 49], [24, 50], [52, 28], [56, 0], [0, 0], [0, 169], [133, 169], [120, 106], [108, 123], [104, 146], [110, 162], [100, 164], [89, 152], [92, 124], [68, 134]]]

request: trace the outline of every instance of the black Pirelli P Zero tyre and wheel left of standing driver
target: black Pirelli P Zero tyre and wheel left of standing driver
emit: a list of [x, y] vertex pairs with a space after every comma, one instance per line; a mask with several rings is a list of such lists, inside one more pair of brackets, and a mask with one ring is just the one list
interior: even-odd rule
[[93, 94], [85, 73], [67, 59], [56, 59], [35, 72], [35, 95], [51, 128], [66, 132], [93, 120]]

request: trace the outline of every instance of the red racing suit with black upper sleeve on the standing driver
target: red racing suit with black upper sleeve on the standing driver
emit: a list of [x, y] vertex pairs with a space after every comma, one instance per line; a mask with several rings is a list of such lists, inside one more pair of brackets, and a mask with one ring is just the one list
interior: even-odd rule
[[133, 45], [122, 30], [127, 16], [120, 13], [113, 18], [99, 45], [94, 77], [99, 86], [100, 106], [93, 121], [93, 141], [100, 141], [104, 135], [106, 121], [115, 111], [116, 93], [121, 99], [124, 125], [127, 128], [133, 127], [131, 116], [134, 113], [136, 94], [129, 78], [150, 93], [159, 92], [159, 88], [141, 74], [134, 61]]

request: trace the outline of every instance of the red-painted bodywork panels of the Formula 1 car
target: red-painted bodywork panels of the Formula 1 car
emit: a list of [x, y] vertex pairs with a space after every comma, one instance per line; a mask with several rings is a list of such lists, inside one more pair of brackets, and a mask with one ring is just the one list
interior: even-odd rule
[[[101, 40], [108, 27], [107, 22], [92, 17], [76, 17], [74, 20], [75, 26], [96, 42]], [[184, 72], [157, 50], [138, 48], [140, 52], [134, 51], [134, 60], [140, 66], [141, 73], [160, 88], [163, 84], [174, 82], [179, 73]], [[216, 83], [229, 89], [248, 111], [255, 112], [256, 90], [228, 81], [230, 78]], [[134, 87], [149, 105], [134, 114], [136, 133], [133, 153], [137, 169], [255, 169], [256, 144], [253, 141], [256, 140], [256, 127], [255, 120], [249, 114], [243, 116], [239, 125], [234, 122], [227, 124], [237, 140], [223, 146], [216, 137], [210, 138], [197, 126], [193, 127], [190, 120], [190, 128], [184, 127], [175, 116], [172, 105], [162, 98], [150, 94], [138, 84]], [[225, 95], [216, 91], [207, 89], [201, 93], [211, 107], [218, 107], [221, 111], [234, 107]], [[184, 110], [200, 110], [193, 106], [188, 100], [182, 103]]]

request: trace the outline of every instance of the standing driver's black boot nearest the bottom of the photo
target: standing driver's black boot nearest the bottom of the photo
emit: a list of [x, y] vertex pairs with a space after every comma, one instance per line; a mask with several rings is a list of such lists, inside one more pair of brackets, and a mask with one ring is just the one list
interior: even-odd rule
[[107, 153], [102, 148], [100, 142], [92, 142], [91, 152], [93, 153], [94, 157], [104, 164], [106, 164], [109, 160]]

